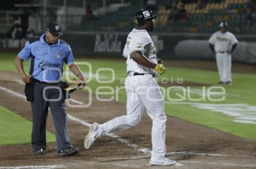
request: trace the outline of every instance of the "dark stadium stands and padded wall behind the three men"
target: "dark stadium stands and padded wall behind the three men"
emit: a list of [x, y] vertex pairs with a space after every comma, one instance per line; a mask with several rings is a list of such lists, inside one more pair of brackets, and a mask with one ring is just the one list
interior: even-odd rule
[[[25, 0], [0, 7], [0, 49], [20, 49], [58, 22], [74, 54], [120, 58], [133, 17], [142, 8], [158, 15], [151, 33], [165, 60], [214, 60], [208, 39], [220, 22], [239, 40], [233, 61], [256, 63], [255, 0]], [[17, 51], [18, 51], [17, 50]]]

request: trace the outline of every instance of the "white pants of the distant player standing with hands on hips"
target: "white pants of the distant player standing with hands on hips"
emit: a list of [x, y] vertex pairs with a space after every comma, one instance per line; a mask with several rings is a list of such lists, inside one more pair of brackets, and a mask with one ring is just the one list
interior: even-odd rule
[[220, 82], [232, 82], [231, 79], [231, 55], [226, 53], [216, 53], [217, 68]]

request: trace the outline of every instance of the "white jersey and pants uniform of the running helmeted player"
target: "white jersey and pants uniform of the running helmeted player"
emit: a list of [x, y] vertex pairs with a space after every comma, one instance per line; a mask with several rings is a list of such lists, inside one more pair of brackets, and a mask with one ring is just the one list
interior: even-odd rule
[[[142, 52], [149, 61], [157, 64], [155, 46], [148, 32], [133, 29], [127, 37], [123, 50], [123, 56], [127, 57], [126, 64], [129, 73], [125, 80], [127, 114], [99, 125], [97, 137], [136, 126], [141, 120], [145, 107], [153, 121], [151, 160], [159, 160], [164, 158], [166, 153], [164, 99], [156, 79], [152, 76], [157, 73], [153, 69], [143, 67], [133, 61], [130, 54], [134, 51]], [[134, 75], [134, 72], [144, 73], [144, 75]]]

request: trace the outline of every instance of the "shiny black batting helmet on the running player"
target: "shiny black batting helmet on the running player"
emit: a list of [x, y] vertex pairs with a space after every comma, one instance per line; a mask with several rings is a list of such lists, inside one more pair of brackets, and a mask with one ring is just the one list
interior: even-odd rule
[[149, 9], [142, 9], [136, 12], [134, 21], [137, 26], [142, 26], [145, 24], [145, 21], [152, 20], [157, 18], [152, 12], [152, 10]]

